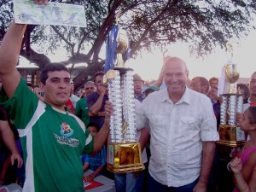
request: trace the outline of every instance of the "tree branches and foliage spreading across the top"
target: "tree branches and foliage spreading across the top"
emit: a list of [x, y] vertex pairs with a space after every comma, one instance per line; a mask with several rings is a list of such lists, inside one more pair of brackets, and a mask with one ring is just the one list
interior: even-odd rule
[[[52, 1], [54, 2], [54, 1]], [[120, 9], [119, 26], [129, 34], [131, 55], [167, 44], [184, 42], [192, 54], [204, 56], [216, 45], [224, 47], [230, 38], [241, 38], [254, 29], [254, 0], [59, 0], [84, 5], [87, 27], [29, 26], [20, 55], [38, 67], [50, 62], [47, 54], [65, 47], [65, 64], [87, 63], [74, 79], [75, 86], [102, 68], [105, 58], [99, 54]], [[13, 19], [10, 0], [0, 3], [0, 40]]]

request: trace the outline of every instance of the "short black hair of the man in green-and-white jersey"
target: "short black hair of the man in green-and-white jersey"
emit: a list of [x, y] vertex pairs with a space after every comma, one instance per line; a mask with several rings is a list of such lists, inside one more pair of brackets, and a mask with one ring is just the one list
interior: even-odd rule
[[55, 72], [55, 71], [66, 71], [69, 73], [68, 68], [61, 62], [55, 62], [55, 63], [49, 63], [45, 65], [45, 67], [42, 69], [42, 72], [40, 74], [40, 81], [45, 84], [46, 79], [48, 79], [48, 73], [49, 72]]

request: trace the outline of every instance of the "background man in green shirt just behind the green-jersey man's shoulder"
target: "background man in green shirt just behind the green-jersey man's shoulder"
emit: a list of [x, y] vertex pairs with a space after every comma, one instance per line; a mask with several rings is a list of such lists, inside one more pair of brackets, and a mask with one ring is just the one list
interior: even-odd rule
[[85, 96], [81, 98], [79, 102], [77, 102], [76, 115], [84, 122], [84, 125], [87, 127], [87, 125], [90, 122], [90, 117], [89, 117], [89, 108], [87, 106], [86, 96], [96, 91], [96, 87], [93, 81], [86, 82], [84, 84], [84, 90], [85, 90]]

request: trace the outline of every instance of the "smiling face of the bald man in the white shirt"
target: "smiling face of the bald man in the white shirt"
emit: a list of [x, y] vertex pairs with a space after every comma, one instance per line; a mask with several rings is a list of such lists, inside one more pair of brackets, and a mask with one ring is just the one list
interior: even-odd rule
[[188, 75], [183, 61], [175, 59], [166, 63], [164, 79], [170, 96], [183, 96]]

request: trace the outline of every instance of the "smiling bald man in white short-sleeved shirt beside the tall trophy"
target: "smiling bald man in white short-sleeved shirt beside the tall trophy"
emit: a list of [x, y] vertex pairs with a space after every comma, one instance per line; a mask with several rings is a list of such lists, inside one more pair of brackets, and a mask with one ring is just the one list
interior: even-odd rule
[[182, 59], [167, 59], [164, 73], [166, 89], [151, 93], [136, 112], [138, 129], [150, 127], [148, 192], [207, 191], [219, 139], [212, 103], [186, 87]]

